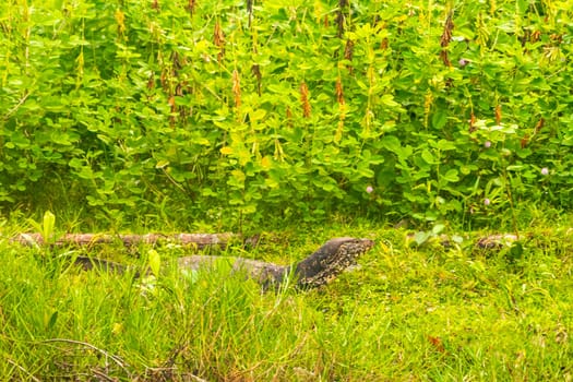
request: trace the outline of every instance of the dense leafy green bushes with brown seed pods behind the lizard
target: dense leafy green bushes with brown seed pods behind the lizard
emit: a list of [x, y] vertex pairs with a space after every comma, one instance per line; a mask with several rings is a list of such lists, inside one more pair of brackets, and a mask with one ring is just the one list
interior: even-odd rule
[[0, 201], [252, 220], [570, 206], [572, 15], [535, 0], [7, 1]]

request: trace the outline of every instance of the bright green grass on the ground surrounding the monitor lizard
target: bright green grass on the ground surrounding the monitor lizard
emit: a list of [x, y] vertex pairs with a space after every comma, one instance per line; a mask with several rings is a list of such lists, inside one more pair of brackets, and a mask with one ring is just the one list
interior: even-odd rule
[[[533, 222], [533, 220], [532, 220]], [[415, 247], [406, 230], [355, 222], [264, 236], [220, 254], [288, 263], [334, 236], [375, 239], [320, 290], [261, 294], [224, 271], [81, 272], [85, 249], [23, 248], [0, 238], [2, 380], [571, 381], [573, 235], [566, 218], [524, 224], [516, 249], [466, 239]], [[525, 227], [528, 226], [528, 227]], [[526, 228], [526, 229], [525, 229]], [[452, 232], [454, 230], [452, 229]], [[471, 237], [485, 232], [473, 232]], [[147, 247], [94, 255], [143, 265]], [[138, 254], [143, 255], [138, 258]]]

